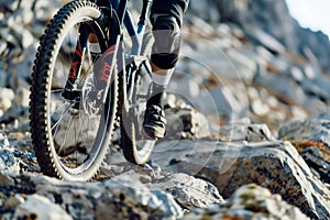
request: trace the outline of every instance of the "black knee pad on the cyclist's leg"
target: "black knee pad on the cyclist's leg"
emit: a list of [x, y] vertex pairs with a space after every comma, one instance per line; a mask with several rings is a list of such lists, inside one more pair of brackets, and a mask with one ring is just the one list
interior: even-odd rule
[[179, 24], [168, 14], [153, 14], [152, 23], [155, 37], [152, 62], [161, 68], [173, 68], [178, 59], [180, 46]]

